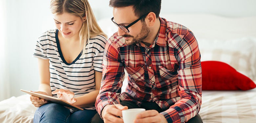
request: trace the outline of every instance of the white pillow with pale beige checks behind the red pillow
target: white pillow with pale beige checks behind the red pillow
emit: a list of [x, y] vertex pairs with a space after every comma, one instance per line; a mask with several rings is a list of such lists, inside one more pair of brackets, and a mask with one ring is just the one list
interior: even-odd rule
[[[256, 38], [232, 40], [197, 39], [201, 61], [222, 61], [256, 81]], [[221, 71], [221, 70], [220, 70]]]

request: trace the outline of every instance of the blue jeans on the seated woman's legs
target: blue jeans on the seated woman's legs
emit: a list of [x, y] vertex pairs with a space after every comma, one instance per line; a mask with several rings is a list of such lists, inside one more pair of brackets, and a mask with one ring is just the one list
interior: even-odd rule
[[70, 113], [66, 107], [47, 103], [37, 108], [34, 114], [34, 123], [90, 123], [96, 110], [78, 110]]

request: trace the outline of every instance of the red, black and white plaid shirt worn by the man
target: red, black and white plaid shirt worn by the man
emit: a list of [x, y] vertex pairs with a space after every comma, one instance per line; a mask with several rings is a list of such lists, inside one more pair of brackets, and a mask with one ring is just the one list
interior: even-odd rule
[[[132, 101], [156, 102], [168, 122], [188, 121], [199, 113], [202, 103], [200, 51], [193, 33], [186, 27], [160, 19], [160, 31], [153, 44], [127, 45], [117, 33], [108, 40], [103, 56], [103, 78], [96, 109]], [[128, 86], [121, 93], [124, 69]]]

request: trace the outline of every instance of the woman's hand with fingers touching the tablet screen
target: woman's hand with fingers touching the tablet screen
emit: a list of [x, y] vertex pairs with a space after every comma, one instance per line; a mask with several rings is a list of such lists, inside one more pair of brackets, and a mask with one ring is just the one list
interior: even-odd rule
[[68, 102], [68, 103], [75, 103], [76, 99], [73, 98], [75, 93], [71, 92], [69, 90], [64, 90], [64, 89], [56, 89], [55, 91], [52, 92], [52, 94], [57, 94], [57, 97]]

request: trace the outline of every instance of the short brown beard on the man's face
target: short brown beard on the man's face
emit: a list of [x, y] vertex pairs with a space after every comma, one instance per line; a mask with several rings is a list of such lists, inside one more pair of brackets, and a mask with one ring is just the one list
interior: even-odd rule
[[125, 40], [125, 43], [127, 45], [136, 45], [139, 42], [144, 41], [148, 35], [150, 34], [150, 29], [147, 27], [146, 23], [143, 21], [142, 22], [142, 29], [140, 30], [140, 33], [136, 36], [124, 34], [122, 35], [123, 37], [131, 37], [132, 41]]

